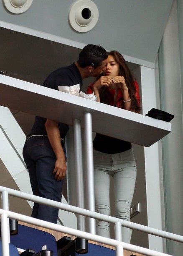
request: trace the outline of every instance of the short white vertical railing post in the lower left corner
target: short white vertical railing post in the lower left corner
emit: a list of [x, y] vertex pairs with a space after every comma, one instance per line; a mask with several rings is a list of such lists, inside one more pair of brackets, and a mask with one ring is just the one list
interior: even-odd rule
[[10, 240], [10, 229], [9, 227], [9, 219], [6, 212], [3, 212], [1, 215], [1, 238], [2, 238], [2, 252], [3, 256], [10, 256], [9, 251], [9, 240]]

